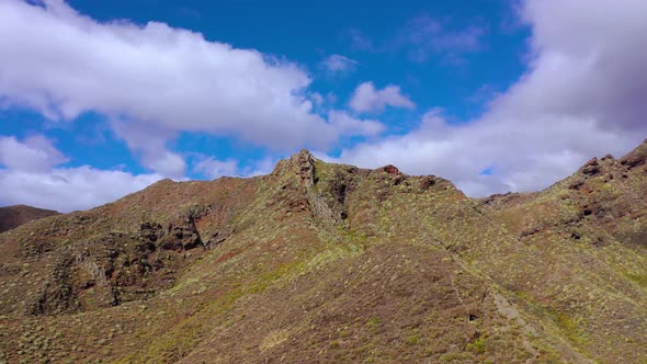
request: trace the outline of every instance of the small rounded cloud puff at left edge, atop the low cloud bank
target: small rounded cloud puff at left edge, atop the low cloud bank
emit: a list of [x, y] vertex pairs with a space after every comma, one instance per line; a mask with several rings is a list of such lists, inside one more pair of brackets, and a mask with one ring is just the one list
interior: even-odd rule
[[67, 161], [42, 135], [31, 136], [22, 143], [13, 136], [0, 137], [0, 164], [10, 169], [39, 172]]

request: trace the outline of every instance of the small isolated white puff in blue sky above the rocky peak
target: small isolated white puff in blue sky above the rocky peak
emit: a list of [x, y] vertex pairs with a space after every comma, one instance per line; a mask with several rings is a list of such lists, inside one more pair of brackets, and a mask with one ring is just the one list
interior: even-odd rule
[[404, 109], [416, 107], [411, 100], [401, 94], [399, 87], [389, 84], [378, 90], [373, 82], [364, 82], [357, 86], [349, 105], [352, 110], [362, 113], [382, 112], [387, 105]]

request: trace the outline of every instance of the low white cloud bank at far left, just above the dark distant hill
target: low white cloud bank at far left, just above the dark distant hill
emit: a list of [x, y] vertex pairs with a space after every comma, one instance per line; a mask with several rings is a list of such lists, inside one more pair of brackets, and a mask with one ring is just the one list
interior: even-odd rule
[[91, 167], [57, 167], [67, 160], [41, 135], [23, 141], [0, 138], [0, 205], [27, 204], [59, 212], [87, 209], [162, 178], [155, 173], [134, 175]]

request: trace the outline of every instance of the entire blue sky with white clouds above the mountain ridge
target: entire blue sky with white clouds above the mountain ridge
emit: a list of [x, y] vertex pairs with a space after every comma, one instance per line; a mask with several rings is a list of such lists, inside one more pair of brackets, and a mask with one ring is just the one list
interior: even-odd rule
[[481, 196], [647, 136], [640, 1], [0, 8], [0, 205], [89, 208], [300, 148]]

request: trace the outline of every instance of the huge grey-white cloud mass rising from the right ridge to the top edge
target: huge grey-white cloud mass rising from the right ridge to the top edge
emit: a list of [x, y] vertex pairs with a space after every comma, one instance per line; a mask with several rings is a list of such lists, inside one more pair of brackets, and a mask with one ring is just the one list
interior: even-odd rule
[[433, 111], [416, 130], [340, 159], [439, 174], [483, 196], [543, 189], [593, 156], [638, 145], [647, 136], [647, 2], [529, 0], [522, 16], [532, 27], [529, 71], [481, 117], [450, 124]]

